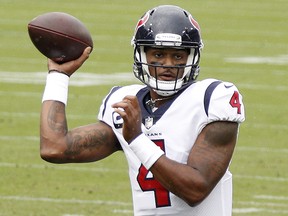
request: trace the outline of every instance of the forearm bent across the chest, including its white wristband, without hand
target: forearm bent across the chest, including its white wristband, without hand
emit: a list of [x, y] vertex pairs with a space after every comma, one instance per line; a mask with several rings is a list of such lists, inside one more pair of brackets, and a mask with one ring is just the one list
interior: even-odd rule
[[189, 205], [198, 204], [212, 190], [213, 185], [206, 182], [199, 170], [167, 158], [160, 147], [144, 134], [133, 140], [129, 147], [164, 188]]

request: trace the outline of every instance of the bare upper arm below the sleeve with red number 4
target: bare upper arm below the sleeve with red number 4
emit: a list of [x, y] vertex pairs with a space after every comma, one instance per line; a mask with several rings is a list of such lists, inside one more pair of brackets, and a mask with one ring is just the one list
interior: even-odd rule
[[237, 141], [238, 123], [213, 122], [199, 134], [188, 158], [207, 185], [214, 186], [226, 172]]

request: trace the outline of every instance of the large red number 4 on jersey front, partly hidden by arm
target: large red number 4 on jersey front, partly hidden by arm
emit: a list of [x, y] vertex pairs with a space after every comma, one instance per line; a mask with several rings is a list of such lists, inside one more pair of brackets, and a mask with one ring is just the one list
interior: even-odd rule
[[[159, 146], [163, 151], [165, 151], [164, 140], [153, 140], [153, 142]], [[158, 182], [152, 173], [147, 170], [142, 164], [139, 168], [139, 173], [137, 176], [137, 181], [143, 192], [153, 191], [155, 197], [156, 207], [171, 206], [170, 194], [160, 182]]]

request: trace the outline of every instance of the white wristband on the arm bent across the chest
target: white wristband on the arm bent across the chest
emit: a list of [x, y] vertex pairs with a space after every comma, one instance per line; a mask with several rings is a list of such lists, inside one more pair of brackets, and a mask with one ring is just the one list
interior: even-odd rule
[[143, 133], [132, 140], [129, 147], [147, 170], [164, 154], [164, 151]]

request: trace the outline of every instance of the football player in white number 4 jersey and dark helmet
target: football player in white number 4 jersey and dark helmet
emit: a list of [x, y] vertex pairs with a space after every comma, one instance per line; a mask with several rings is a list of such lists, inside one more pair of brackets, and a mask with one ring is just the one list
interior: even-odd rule
[[135, 216], [231, 216], [229, 165], [245, 120], [242, 95], [230, 82], [196, 81], [200, 27], [180, 7], [147, 11], [132, 45], [133, 72], [142, 84], [113, 87], [98, 121], [71, 130], [65, 115], [69, 77], [90, 48], [61, 65], [48, 60], [41, 157], [52, 163], [91, 162], [123, 151]]

